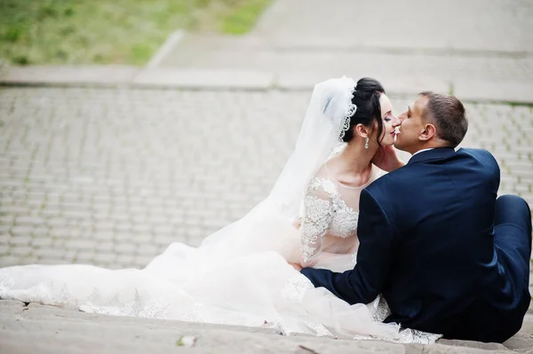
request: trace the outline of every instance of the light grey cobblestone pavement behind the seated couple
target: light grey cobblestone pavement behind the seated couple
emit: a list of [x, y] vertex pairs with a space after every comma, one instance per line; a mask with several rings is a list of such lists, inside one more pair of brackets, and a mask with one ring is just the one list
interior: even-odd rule
[[[0, 265], [147, 264], [264, 198], [310, 92], [0, 90]], [[408, 102], [394, 100], [400, 111]], [[464, 146], [533, 205], [533, 108], [468, 105]]]

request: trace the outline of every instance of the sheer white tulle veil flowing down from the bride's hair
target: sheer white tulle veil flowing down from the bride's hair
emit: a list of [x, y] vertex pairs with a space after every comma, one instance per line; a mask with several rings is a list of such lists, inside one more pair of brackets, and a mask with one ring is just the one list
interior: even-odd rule
[[242, 219], [203, 240], [201, 254], [211, 258], [275, 250], [286, 259], [299, 259], [294, 249], [298, 234], [291, 222], [300, 213], [309, 181], [341, 145], [356, 109], [355, 84], [342, 77], [315, 85], [296, 147], [272, 191]]

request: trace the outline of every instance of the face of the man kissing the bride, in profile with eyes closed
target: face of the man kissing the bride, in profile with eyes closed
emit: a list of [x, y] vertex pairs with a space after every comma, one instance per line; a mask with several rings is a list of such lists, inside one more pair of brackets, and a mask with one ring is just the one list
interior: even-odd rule
[[407, 107], [407, 111], [400, 114], [399, 118], [402, 121], [400, 126], [400, 134], [396, 136], [394, 146], [397, 149], [406, 151], [408, 153], [416, 153], [418, 146], [423, 142], [419, 139], [420, 134], [424, 131], [424, 118], [422, 114], [426, 109], [427, 98], [420, 96]]

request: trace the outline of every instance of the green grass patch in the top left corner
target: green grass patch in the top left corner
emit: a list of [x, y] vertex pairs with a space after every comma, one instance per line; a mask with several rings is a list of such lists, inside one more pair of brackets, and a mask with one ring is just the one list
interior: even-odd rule
[[172, 31], [251, 30], [272, 0], [0, 0], [0, 59], [142, 65]]

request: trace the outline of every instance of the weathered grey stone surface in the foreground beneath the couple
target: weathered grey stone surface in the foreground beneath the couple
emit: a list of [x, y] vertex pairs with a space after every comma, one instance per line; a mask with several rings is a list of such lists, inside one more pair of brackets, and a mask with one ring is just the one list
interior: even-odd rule
[[[526, 318], [527, 324], [533, 323]], [[185, 340], [188, 339], [188, 340]], [[223, 326], [162, 319], [95, 315], [75, 309], [0, 301], [0, 351], [198, 352], [198, 353], [512, 353], [530, 352], [533, 339], [522, 331], [504, 344], [441, 340], [403, 345], [306, 335], [283, 336], [273, 328]]]

